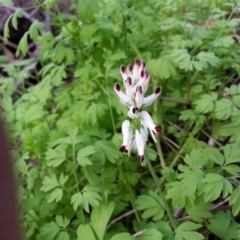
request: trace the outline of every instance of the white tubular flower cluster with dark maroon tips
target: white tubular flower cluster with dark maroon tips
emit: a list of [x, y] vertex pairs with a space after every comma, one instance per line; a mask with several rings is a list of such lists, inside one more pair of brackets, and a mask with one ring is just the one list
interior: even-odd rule
[[144, 61], [135, 59], [134, 66], [128, 65], [120, 67], [120, 73], [125, 86], [125, 93], [121, 91], [118, 83], [114, 86], [114, 91], [120, 98], [122, 104], [129, 107], [128, 116], [132, 118], [132, 124], [125, 120], [122, 124], [123, 143], [119, 150], [130, 155], [133, 148], [138, 151], [138, 159], [142, 163], [144, 160], [144, 150], [148, 142], [148, 130], [153, 140], [156, 142], [155, 133], [161, 133], [162, 127], [156, 126], [146, 111], [141, 111], [141, 107], [149, 106], [161, 94], [161, 87], [157, 87], [153, 94], [144, 97], [147, 91], [150, 74], [146, 71]]

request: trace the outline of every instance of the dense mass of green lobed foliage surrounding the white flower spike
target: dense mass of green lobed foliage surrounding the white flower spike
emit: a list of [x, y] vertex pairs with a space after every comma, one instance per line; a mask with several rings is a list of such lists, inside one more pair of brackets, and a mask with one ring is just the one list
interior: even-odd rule
[[[16, 61], [0, 53], [0, 111], [26, 238], [239, 238], [240, 5], [82, 0], [68, 13], [56, 1], [36, 4], [53, 31], [33, 21], [11, 48]], [[9, 16], [5, 43], [30, 12]], [[136, 57], [151, 74], [147, 94], [163, 89], [146, 109], [164, 131], [143, 167], [118, 151], [127, 107], [113, 91], [119, 67]]]

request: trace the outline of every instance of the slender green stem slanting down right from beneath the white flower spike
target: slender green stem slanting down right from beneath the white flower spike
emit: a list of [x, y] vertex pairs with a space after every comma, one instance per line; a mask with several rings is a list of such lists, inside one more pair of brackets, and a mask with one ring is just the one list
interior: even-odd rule
[[164, 194], [163, 194], [163, 191], [162, 191], [162, 189], [161, 189], [161, 186], [160, 186], [158, 177], [157, 177], [157, 175], [156, 175], [156, 173], [155, 173], [155, 171], [154, 171], [154, 169], [153, 169], [153, 167], [152, 167], [151, 161], [150, 161], [148, 158], [147, 158], [147, 165], [148, 165], [148, 168], [149, 168], [149, 170], [150, 170], [150, 172], [151, 172], [151, 174], [152, 174], [152, 177], [153, 177], [153, 180], [154, 180], [154, 182], [155, 182], [155, 185], [156, 185], [156, 187], [157, 187], [157, 190], [158, 190], [158, 193], [159, 193], [159, 197], [160, 197], [160, 199], [162, 200], [163, 205], [164, 205], [164, 208], [165, 208], [165, 210], [166, 210], [166, 212], [167, 212], [169, 221], [171, 222], [173, 229], [176, 229], [176, 228], [177, 228], [177, 222], [176, 222], [176, 220], [174, 219], [174, 217], [173, 217], [173, 215], [172, 215], [172, 213], [171, 213], [171, 211], [170, 211], [170, 208], [169, 208], [169, 206], [168, 206], [168, 203], [167, 203], [167, 201], [166, 201], [166, 199], [165, 199], [165, 196], [164, 196]]

